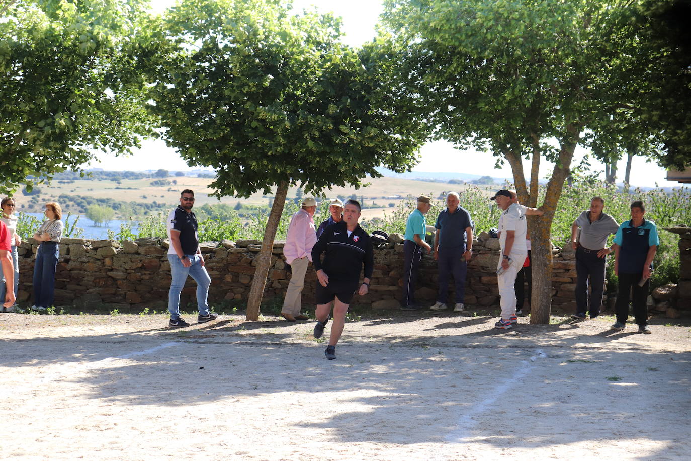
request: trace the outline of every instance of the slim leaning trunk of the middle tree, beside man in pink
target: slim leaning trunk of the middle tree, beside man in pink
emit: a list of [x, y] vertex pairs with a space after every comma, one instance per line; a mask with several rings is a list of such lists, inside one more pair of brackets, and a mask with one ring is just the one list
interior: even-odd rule
[[249, 299], [247, 299], [247, 316], [246, 320], [256, 321], [259, 319], [259, 307], [264, 296], [264, 287], [266, 286], [266, 277], [269, 274], [269, 265], [271, 264], [272, 250], [274, 250], [274, 236], [276, 236], [276, 229], [278, 229], [278, 222], [281, 220], [283, 214], [283, 207], [285, 207], [285, 196], [288, 194], [288, 182], [283, 181], [276, 189], [276, 198], [274, 198], [274, 205], [271, 207], [269, 219], [266, 222], [266, 229], [264, 230], [264, 239], [261, 243], [261, 250], [254, 258], [256, 270], [254, 270], [254, 279], [252, 279], [252, 288], [249, 289]]

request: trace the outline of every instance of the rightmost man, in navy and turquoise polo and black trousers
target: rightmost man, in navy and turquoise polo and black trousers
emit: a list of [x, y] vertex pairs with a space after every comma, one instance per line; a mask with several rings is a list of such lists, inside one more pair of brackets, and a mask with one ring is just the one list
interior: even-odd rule
[[[614, 274], [619, 278], [616, 297], [616, 323], [612, 330], [625, 328], [629, 317], [629, 293], [632, 293], [634, 317], [638, 331], [650, 335], [647, 325], [646, 301], [650, 288], [652, 260], [660, 244], [655, 223], [643, 218], [645, 205], [636, 201], [631, 204], [631, 220], [625, 221], [614, 235]], [[643, 282], [643, 283], [641, 283]]]

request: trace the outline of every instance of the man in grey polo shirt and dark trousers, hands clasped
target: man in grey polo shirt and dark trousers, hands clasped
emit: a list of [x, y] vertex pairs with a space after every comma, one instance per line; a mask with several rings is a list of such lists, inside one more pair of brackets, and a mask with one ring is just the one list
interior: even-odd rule
[[[586, 312], [594, 319], [600, 315], [605, 289], [605, 265], [607, 237], [616, 233], [619, 225], [612, 216], [603, 213], [605, 200], [594, 197], [590, 209], [583, 211], [571, 225], [571, 243], [576, 250], [576, 313], [574, 319], [585, 319]], [[580, 238], [576, 238], [580, 227]], [[590, 276], [590, 301], [588, 301], [588, 276]]]

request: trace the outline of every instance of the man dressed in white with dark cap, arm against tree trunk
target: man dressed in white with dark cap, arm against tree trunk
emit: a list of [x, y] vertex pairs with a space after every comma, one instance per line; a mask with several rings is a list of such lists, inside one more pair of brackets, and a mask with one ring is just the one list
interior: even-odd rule
[[516, 274], [522, 267], [528, 254], [525, 243], [527, 232], [525, 215], [520, 207], [513, 203], [513, 196], [507, 189], [498, 191], [491, 200], [504, 212], [499, 218], [499, 241], [502, 249], [497, 266], [502, 318], [494, 324], [495, 328], [511, 328], [517, 323], [516, 294], [513, 290]]

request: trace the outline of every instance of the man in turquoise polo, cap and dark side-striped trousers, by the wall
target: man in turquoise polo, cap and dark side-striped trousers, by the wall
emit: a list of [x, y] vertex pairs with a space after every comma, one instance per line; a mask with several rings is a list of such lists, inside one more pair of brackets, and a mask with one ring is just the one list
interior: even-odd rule
[[425, 241], [427, 222], [425, 215], [432, 207], [432, 199], [427, 196], [417, 198], [417, 208], [413, 210], [406, 221], [406, 240], [403, 243], [404, 267], [403, 267], [403, 299], [401, 310], [415, 310], [419, 306], [415, 303], [415, 281], [417, 281], [417, 269], [422, 261], [422, 250], [430, 252], [432, 247]]

